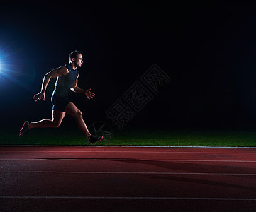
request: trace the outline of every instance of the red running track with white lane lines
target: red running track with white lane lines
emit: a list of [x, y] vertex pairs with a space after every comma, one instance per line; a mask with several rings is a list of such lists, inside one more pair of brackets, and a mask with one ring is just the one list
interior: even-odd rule
[[0, 147], [0, 211], [255, 211], [256, 148]]

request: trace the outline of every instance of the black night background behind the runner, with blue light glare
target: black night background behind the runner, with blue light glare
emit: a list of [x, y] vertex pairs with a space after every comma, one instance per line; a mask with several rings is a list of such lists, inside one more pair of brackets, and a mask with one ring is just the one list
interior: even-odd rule
[[2, 125], [51, 117], [54, 81], [45, 102], [32, 97], [44, 74], [77, 49], [79, 87], [96, 93], [94, 100], [71, 96], [87, 124], [106, 120], [106, 110], [157, 64], [171, 80], [127, 126], [255, 127], [255, 5], [93, 2], [1, 3]]

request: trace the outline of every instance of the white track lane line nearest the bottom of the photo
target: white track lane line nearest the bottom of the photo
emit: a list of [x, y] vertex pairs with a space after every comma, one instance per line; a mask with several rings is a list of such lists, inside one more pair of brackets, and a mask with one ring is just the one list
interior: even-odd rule
[[204, 198], [166, 196], [0, 196], [0, 199], [138, 199], [138, 200], [208, 200], [208, 201], [256, 201], [255, 198]]

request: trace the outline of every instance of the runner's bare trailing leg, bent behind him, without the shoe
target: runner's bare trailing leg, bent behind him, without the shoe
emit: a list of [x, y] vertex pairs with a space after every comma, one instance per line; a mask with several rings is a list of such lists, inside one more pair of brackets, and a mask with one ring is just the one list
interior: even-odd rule
[[28, 129], [33, 128], [45, 128], [45, 127], [58, 127], [60, 126], [63, 118], [65, 117], [65, 112], [59, 110], [52, 110], [52, 120], [43, 119], [39, 122], [31, 122], [28, 124]]

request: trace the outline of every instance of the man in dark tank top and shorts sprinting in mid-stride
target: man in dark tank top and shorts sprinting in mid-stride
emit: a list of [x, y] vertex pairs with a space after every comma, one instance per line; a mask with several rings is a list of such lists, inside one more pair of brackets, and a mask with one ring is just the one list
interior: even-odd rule
[[23, 136], [26, 131], [33, 128], [58, 127], [67, 113], [76, 119], [78, 128], [85, 136], [87, 136], [89, 143], [96, 143], [103, 139], [103, 136], [91, 136], [87, 129], [87, 125], [84, 123], [82, 112], [68, 98], [70, 90], [75, 93], [82, 93], [86, 95], [88, 99], [94, 98], [95, 94], [91, 92], [91, 88], [84, 90], [77, 86], [77, 80], [79, 77], [77, 68], [81, 68], [82, 64], [82, 54], [78, 51], [74, 51], [69, 54], [69, 64], [60, 66], [59, 68], [53, 69], [49, 73], [45, 74], [41, 91], [33, 96], [33, 100], [35, 100], [35, 102], [45, 100], [45, 91], [50, 79], [57, 78], [55, 90], [53, 91], [51, 98], [53, 105], [52, 120], [43, 119], [38, 122], [25, 121], [20, 130], [20, 136]]

